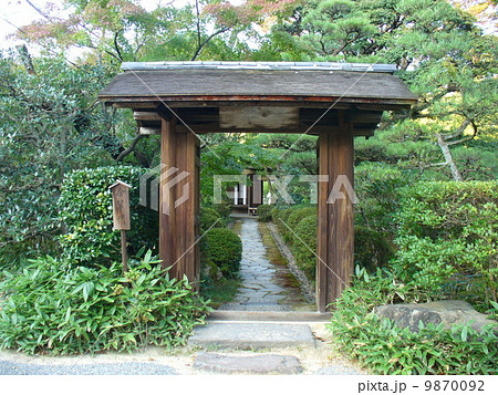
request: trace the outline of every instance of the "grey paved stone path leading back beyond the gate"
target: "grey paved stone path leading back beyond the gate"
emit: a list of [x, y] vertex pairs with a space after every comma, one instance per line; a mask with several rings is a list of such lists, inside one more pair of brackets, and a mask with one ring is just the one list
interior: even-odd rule
[[238, 294], [232, 302], [219, 310], [235, 311], [291, 311], [314, 310], [307, 305], [301, 291], [289, 283], [292, 274], [284, 266], [270, 262], [267, 248], [259, 231], [259, 222], [253, 218], [240, 218], [242, 239], [242, 279]]

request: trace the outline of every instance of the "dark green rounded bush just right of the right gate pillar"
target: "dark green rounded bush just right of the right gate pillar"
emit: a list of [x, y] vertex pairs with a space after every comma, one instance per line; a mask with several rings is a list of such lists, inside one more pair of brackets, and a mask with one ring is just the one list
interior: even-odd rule
[[387, 266], [394, 257], [394, 249], [387, 241], [388, 236], [377, 230], [354, 227], [354, 262], [361, 268], [374, 271]]

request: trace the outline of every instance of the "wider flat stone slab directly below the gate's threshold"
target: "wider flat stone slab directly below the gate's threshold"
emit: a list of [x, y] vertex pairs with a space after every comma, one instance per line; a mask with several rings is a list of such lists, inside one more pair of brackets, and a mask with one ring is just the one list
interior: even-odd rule
[[314, 337], [308, 324], [210, 322], [197, 326], [188, 344], [241, 350], [273, 349], [314, 346]]

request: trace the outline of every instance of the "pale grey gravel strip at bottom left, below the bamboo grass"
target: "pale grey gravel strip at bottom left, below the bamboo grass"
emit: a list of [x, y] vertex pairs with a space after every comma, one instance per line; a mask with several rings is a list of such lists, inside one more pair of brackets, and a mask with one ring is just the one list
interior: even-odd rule
[[156, 363], [95, 363], [41, 365], [0, 360], [0, 375], [172, 375], [175, 370]]

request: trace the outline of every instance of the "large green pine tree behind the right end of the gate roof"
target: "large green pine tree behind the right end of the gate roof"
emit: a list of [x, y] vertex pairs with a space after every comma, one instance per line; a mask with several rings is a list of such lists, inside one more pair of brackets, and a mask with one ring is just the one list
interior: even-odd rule
[[[384, 121], [381, 129], [390, 133], [381, 145], [398, 135], [407, 136], [404, 144], [416, 144], [411, 158], [403, 153], [384, 156], [412, 162], [415, 168], [448, 169], [448, 176], [463, 180], [463, 174], [479, 175], [466, 168], [467, 160], [457, 163], [454, 148], [497, 138], [496, 44], [496, 37], [483, 34], [471, 14], [443, 0], [315, 0], [280, 19], [260, 52], [278, 54], [274, 60], [395, 63], [419, 103]], [[372, 138], [362, 145], [378, 143]], [[471, 163], [489, 174], [484, 163]]]

